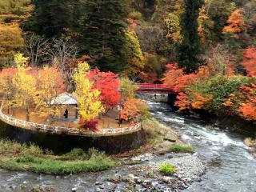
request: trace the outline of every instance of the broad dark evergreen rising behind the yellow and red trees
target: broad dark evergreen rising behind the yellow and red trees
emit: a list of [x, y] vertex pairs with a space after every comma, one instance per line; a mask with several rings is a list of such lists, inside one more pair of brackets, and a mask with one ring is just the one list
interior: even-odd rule
[[100, 70], [124, 69], [126, 1], [87, 0], [80, 20], [82, 50]]

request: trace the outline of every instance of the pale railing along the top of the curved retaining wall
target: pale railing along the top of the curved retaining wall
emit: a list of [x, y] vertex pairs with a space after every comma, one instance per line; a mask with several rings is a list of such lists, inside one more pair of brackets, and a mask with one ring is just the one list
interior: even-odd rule
[[10, 117], [2, 113], [2, 103], [0, 103], [0, 119], [2, 122], [6, 122], [11, 126], [16, 126], [26, 130], [34, 130], [42, 133], [49, 134], [68, 134], [68, 135], [77, 135], [83, 137], [101, 137], [101, 136], [117, 136], [122, 134], [134, 133], [138, 130], [141, 130], [141, 124], [138, 123], [134, 126], [124, 127], [124, 128], [113, 128], [113, 129], [100, 129], [97, 132], [90, 130], [82, 130], [77, 128], [68, 128], [62, 126], [49, 126], [44, 124], [38, 124], [34, 122], [26, 122], [18, 118]]

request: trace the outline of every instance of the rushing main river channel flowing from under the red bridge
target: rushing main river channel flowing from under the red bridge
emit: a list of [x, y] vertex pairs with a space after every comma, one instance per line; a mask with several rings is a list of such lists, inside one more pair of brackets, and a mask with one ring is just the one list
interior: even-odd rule
[[244, 135], [218, 130], [218, 127], [210, 129], [205, 122], [170, 113], [170, 107], [165, 104], [149, 104], [154, 117], [179, 130], [182, 139], [191, 143], [196, 155], [206, 162], [202, 182], [194, 182], [186, 191], [256, 191], [256, 160], [243, 143]]

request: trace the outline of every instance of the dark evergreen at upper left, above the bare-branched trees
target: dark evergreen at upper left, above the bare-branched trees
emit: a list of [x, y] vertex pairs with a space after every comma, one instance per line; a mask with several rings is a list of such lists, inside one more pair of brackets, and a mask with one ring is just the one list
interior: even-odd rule
[[65, 28], [74, 26], [75, 0], [34, 0], [34, 13], [25, 24], [26, 30], [46, 38], [58, 38]]

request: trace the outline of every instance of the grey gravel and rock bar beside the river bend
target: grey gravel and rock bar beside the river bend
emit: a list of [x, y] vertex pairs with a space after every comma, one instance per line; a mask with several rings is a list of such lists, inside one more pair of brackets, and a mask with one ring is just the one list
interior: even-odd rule
[[[192, 182], [200, 181], [206, 166], [191, 154], [165, 154], [157, 157], [143, 154], [133, 158], [140, 163], [112, 170], [112, 174], [97, 178], [96, 191], [181, 191]], [[178, 171], [172, 176], [158, 172], [162, 163], [174, 165]]]

